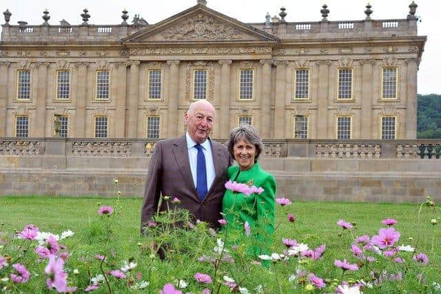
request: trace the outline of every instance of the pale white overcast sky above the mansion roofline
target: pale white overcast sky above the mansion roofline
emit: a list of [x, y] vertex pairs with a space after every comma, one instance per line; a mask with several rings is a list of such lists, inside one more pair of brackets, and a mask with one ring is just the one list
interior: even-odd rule
[[[320, 21], [320, 9], [327, 3], [330, 21], [362, 20], [365, 18], [365, 0], [207, 0], [207, 6], [229, 17], [246, 23], [263, 22], [265, 14], [271, 17], [287, 8], [287, 21]], [[409, 13], [411, 0], [371, 0], [372, 19], [405, 19]], [[438, 11], [440, 1], [416, 0], [418, 34], [428, 36], [420, 72], [418, 74], [418, 94], [441, 94], [441, 79], [438, 76], [440, 65], [441, 33]], [[43, 22], [41, 16], [47, 8], [50, 23], [59, 25], [65, 19], [72, 25], [81, 23], [80, 14], [88, 8], [91, 15], [89, 23], [104, 25], [121, 23], [121, 10], [127, 9], [130, 15], [141, 14], [148, 23], [157, 23], [167, 17], [196, 5], [196, 0], [2, 0], [1, 12], [6, 8], [12, 12], [11, 24], [28, 21], [30, 25]], [[1, 15], [0, 15], [1, 17]], [[4, 23], [1, 17], [0, 23]], [[437, 24], [438, 23], [438, 24]]]

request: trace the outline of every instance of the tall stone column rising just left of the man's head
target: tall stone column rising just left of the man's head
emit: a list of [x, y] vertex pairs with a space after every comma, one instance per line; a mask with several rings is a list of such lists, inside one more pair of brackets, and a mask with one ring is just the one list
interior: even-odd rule
[[[178, 136], [178, 93], [179, 93], [179, 63], [178, 60], [169, 60], [170, 76], [168, 80], [169, 89], [167, 91], [168, 118], [167, 118], [167, 138]], [[179, 130], [181, 131], [181, 130]], [[179, 133], [180, 134], [180, 133]]]

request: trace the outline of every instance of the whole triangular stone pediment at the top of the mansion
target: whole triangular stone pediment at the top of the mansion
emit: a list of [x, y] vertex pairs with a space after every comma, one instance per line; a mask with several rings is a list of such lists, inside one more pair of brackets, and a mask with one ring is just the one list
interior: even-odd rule
[[125, 43], [280, 41], [246, 23], [197, 5], [123, 39]]

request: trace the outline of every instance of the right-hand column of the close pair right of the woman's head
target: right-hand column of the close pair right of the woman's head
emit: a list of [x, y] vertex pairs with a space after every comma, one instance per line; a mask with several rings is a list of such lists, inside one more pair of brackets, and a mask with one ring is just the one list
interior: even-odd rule
[[276, 65], [276, 97], [274, 98], [274, 138], [285, 137], [285, 83], [288, 61], [274, 61]]

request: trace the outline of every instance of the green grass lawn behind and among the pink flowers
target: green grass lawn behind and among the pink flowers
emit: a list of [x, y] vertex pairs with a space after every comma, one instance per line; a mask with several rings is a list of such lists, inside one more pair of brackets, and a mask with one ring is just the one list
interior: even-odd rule
[[[2, 197], [0, 198], [0, 231], [21, 231], [26, 224], [30, 223], [37, 225], [41, 231], [53, 233], [61, 233], [70, 229], [75, 232], [72, 240], [67, 242], [72, 254], [72, 261], [67, 264], [70, 271], [74, 268], [82, 269], [82, 271], [96, 270], [96, 267], [91, 265], [94, 254], [111, 250], [116, 252], [114, 253], [116, 255], [114, 257], [115, 262], [121, 262], [121, 260], [134, 257], [139, 264], [137, 270], [143, 273], [145, 279], [148, 277], [147, 280], [150, 280], [151, 286], [156, 287], [156, 289], [161, 288], [165, 282], [176, 277], [190, 282], [189, 288], [185, 289], [185, 291], [200, 293], [201, 288], [198, 288], [199, 285], [194, 284], [192, 275], [194, 275], [195, 271], [207, 272], [210, 268], [207, 265], [192, 260], [190, 255], [176, 258], [176, 260], [169, 262], [160, 262], [158, 260], [151, 262], [148, 258], [149, 254], [144, 252], [148, 251], [145, 250], [148, 247], [146, 245], [147, 241], [139, 235], [142, 200], [140, 198], [121, 198], [117, 207], [115, 207], [115, 202], [116, 200], [111, 198]], [[111, 205], [118, 213], [113, 227], [113, 238], [109, 244], [101, 239], [94, 239], [98, 235], [101, 235], [101, 237], [103, 235], [102, 227], [100, 229], [96, 215], [96, 211], [101, 205]], [[294, 202], [287, 207], [278, 206], [276, 210], [276, 226], [278, 228], [274, 235], [274, 251], [280, 252], [283, 250], [280, 242], [282, 238], [294, 238], [298, 242], [309, 244], [309, 247], [312, 249], [325, 243], [327, 246], [327, 251], [325, 251], [326, 261], [306, 264], [306, 266], [309, 266], [310, 270], [314, 269], [314, 272], [322, 277], [335, 278], [336, 275], [341, 275], [341, 271], [338, 272], [335, 266], [332, 265], [335, 258], [347, 258], [353, 261], [350, 251], [353, 236], [377, 234], [378, 229], [383, 227], [381, 220], [384, 218], [395, 218], [398, 220], [396, 229], [401, 233], [398, 244], [411, 244], [416, 247], [418, 252], [427, 253], [431, 262], [424, 269], [424, 278], [426, 280], [416, 282], [418, 277], [410, 275], [412, 278], [409, 278], [409, 281], [396, 283], [399, 284], [398, 286], [389, 283], [387, 286], [375, 288], [375, 292], [391, 293], [391, 291], [402, 291], [403, 288], [408, 289], [410, 292], [422, 292], [426, 289], [424, 288], [425, 285], [429, 285], [433, 281], [440, 282], [440, 224], [433, 226], [430, 220], [433, 218], [438, 218], [438, 222], [441, 222], [441, 220], [439, 209], [438, 214], [434, 214], [432, 208], [424, 207], [420, 215], [421, 222], [418, 223], [418, 209], [417, 204], [340, 202]], [[295, 214], [296, 222], [294, 224], [287, 222], [288, 213]], [[347, 222], [356, 223], [356, 229], [352, 232], [353, 235], [338, 227], [336, 222], [340, 218]], [[435, 233], [433, 233], [433, 229], [435, 229]], [[433, 251], [431, 251], [432, 238], [435, 238], [435, 248]], [[189, 237], [188, 240], [192, 240], [192, 237]], [[215, 241], [211, 240], [210, 242], [213, 243]], [[139, 246], [140, 244], [142, 244], [141, 247]], [[201, 244], [188, 244], [188, 246], [195, 246], [197, 248]], [[208, 248], [208, 251], [211, 251], [211, 248]], [[74, 258], [79, 260], [85, 259], [87, 262], [85, 265], [80, 264], [79, 262], [74, 262]], [[290, 260], [289, 262], [294, 261]], [[245, 269], [240, 268], [238, 264], [234, 266], [227, 265], [223, 267], [222, 271], [225, 274], [233, 275], [236, 280], [238, 280], [240, 273], [247, 271], [246, 276], [252, 279], [252, 281], [244, 277], [242, 283], [249, 290], [252, 290], [256, 284], [266, 283], [267, 292], [265, 293], [293, 293], [302, 291], [302, 286], [293, 286], [293, 283], [287, 282], [287, 276], [296, 273], [296, 263], [285, 264], [285, 266], [277, 264], [271, 267], [271, 271], [256, 266], [254, 266], [256, 268], [254, 269], [249, 264], [244, 266]], [[93, 271], [91, 275], [94, 275]], [[261, 275], [265, 275], [265, 277]], [[276, 278], [278, 275], [280, 277]], [[70, 277], [72, 277], [71, 274]], [[72, 283], [76, 282], [77, 284], [75, 285], [85, 287], [88, 285], [89, 278], [82, 276], [77, 281], [72, 280]], [[122, 290], [123, 286], [123, 283], [121, 283], [116, 288], [119, 288], [121, 293], [125, 293]], [[34, 287], [36, 286], [34, 285]], [[41, 283], [37, 286], [37, 288], [39, 287], [44, 288], [45, 286]], [[225, 287], [222, 289], [221, 293], [226, 293]], [[105, 293], [104, 286], [101, 287], [101, 291]], [[97, 293], [100, 292], [98, 291]], [[157, 290], [151, 293], [157, 293]]]

